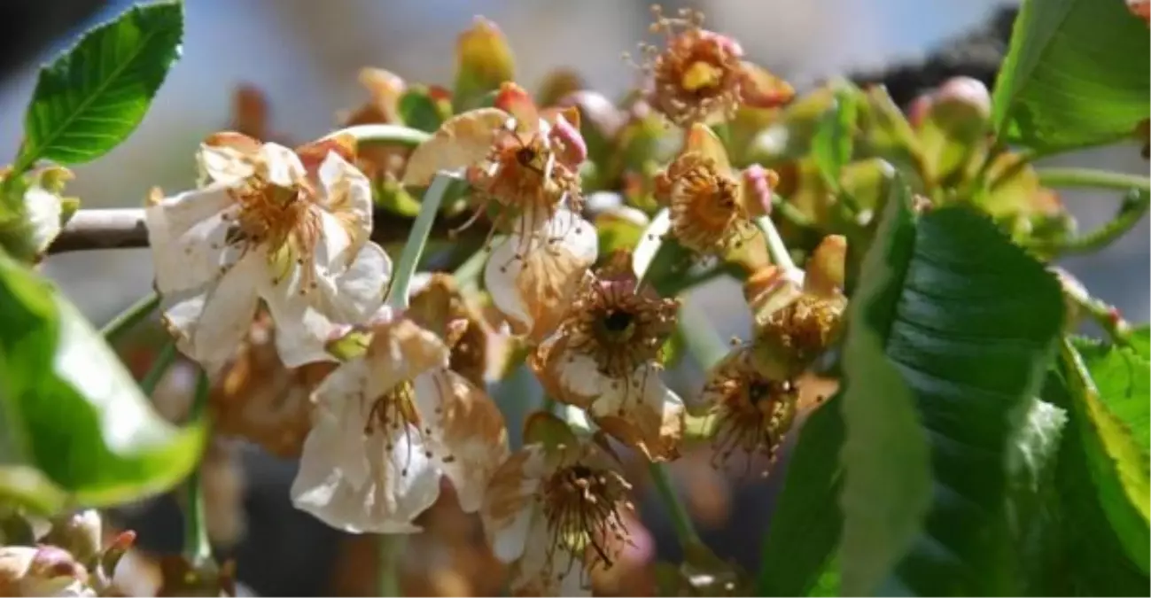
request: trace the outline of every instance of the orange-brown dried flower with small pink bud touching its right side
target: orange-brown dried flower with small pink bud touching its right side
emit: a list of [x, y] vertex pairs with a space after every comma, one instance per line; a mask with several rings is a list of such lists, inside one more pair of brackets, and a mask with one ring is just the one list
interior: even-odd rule
[[745, 244], [767, 246], [752, 217], [771, 208], [778, 176], [762, 167], [732, 168], [723, 143], [703, 124], [687, 133], [684, 151], [656, 177], [656, 198], [671, 210], [671, 235], [703, 255], [726, 256]]

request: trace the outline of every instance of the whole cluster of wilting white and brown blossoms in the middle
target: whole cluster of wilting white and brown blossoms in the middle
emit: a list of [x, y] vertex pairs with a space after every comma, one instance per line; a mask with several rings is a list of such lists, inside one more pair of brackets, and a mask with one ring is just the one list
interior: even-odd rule
[[[510, 54], [483, 20], [460, 38], [455, 95], [367, 69], [371, 101], [323, 139], [290, 150], [241, 132], [207, 138], [201, 183], [153, 201], [147, 228], [167, 328], [216, 379], [218, 432], [298, 457], [294, 505], [353, 534], [420, 531], [450, 486], [460, 509], [479, 513], [517, 596], [585, 595], [594, 574], [625, 560], [627, 454], [679, 458], [693, 419], [716, 422], [717, 463], [737, 450], [773, 454], [795, 415], [796, 377], [834, 338], [844, 299], [828, 282], [830, 250], [815, 252], [802, 281], [772, 266], [764, 222], [773, 231], [778, 176], [734, 167], [733, 146], [709, 125], [782, 105], [790, 87], [700, 24], [657, 15], [654, 28], [666, 47], [650, 51], [640, 101], [685, 135], [642, 175], [653, 204], [604, 209], [585, 198], [602, 114], [578, 92], [541, 106], [504, 77]], [[247, 99], [245, 130], [259, 135], [267, 126]], [[413, 102], [435, 123], [421, 143], [364, 132], [414, 122]], [[440, 209], [470, 213], [452, 233], [486, 230], [483, 263], [416, 274], [418, 238], [394, 273], [373, 240], [396, 240], [373, 225], [380, 206], [403, 212], [397, 189], [427, 189], [436, 204], [417, 206], [424, 218], [444, 179], [466, 192]], [[604, 251], [612, 214], [650, 227]], [[698, 416], [663, 376], [680, 258], [688, 269], [733, 266], [755, 290], [756, 335], [715, 367]], [[486, 386], [517, 361], [566, 411], [528, 415], [512, 447]]]

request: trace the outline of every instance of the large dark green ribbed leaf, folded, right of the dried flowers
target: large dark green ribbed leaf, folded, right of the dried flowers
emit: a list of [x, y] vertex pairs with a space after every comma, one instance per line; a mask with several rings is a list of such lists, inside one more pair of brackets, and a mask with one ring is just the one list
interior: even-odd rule
[[[1059, 285], [984, 216], [962, 207], [937, 209], [914, 222], [906, 192], [889, 201], [885, 227], [866, 260], [860, 289], [852, 299], [847, 332], [845, 420], [848, 445], [862, 422], [862, 431], [878, 436], [895, 424], [867, 421], [878, 414], [855, 409], [870, 401], [874, 409], [901, 405], [887, 394], [902, 391], [889, 381], [879, 362], [866, 355], [874, 335], [883, 343], [883, 355], [910, 391], [930, 448], [930, 509], [912, 550], [879, 588], [913, 596], [1014, 596], [1012, 538], [1005, 505], [1009, 497], [1007, 455], [1023, 423], [1052, 354], [1062, 321]], [[879, 281], [879, 282], [876, 282]], [[854, 346], [863, 335], [862, 348]], [[854, 358], [852, 356], [854, 355]], [[866, 358], [866, 359], [864, 359]], [[906, 434], [915, 444], [915, 435]], [[886, 446], [886, 445], [884, 445]], [[906, 452], [907, 448], [902, 448]], [[869, 453], [869, 454], [853, 454]], [[877, 454], [878, 453], [878, 454]], [[845, 450], [846, 480], [853, 465], [885, 458], [892, 484], [913, 459], [885, 455], [875, 447]], [[912, 454], [914, 457], [914, 454]], [[867, 463], [881, 467], [883, 462]], [[874, 471], [871, 471], [875, 475]], [[875, 488], [872, 500], [891, 491]], [[915, 507], [915, 497], [902, 497]], [[845, 542], [840, 559], [845, 596], [869, 591], [849, 576], [857, 554], [849, 552], [846, 530], [853, 513], [868, 497], [845, 489]], [[890, 505], [885, 505], [890, 506]], [[875, 508], [875, 507], [872, 507]], [[890, 509], [885, 509], [890, 512]], [[897, 524], [907, 522], [897, 520]], [[895, 527], [886, 535], [900, 539]], [[876, 552], [892, 550], [872, 542]], [[867, 581], [864, 578], [864, 581]], [[871, 588], [870, 590], [875, 590]]]

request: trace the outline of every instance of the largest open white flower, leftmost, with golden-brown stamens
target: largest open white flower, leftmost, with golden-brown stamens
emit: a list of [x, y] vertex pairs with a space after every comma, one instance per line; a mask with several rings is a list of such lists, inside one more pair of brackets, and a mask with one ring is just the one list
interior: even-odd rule
[[262, 300], [287, 367], [330, 360], [334, 325], [375, 312], [391, 262], [367, 240], [372, 190], [351, 143], [294, 152], [219, 133], [197, 156], [206, 184], [147, 209], [155, 285], [181, 351], [218, 367]]

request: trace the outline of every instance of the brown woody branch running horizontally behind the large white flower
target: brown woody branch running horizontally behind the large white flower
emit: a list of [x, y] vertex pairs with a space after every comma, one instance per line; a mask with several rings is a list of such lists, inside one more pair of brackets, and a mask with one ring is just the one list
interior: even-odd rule
[[[432, 229], [435, 238], [448, 238], [450, 231], [467, 221], [468, 214], [441, 216]], [[376, 241], [403, 241], [414, 218], [376, 209], [372, 227], [372, 238]], [[479, 237], [487, 233], [488, 225], [477, 222], [460, 231], [459, 237]], [[60, 236], [48, 247], [48, 254], [90, 250], [131, 250], [147, 247], [147, 228], [144, 225], [144, 208], [81, 209], [68, 221]]]

